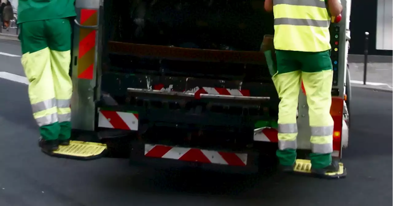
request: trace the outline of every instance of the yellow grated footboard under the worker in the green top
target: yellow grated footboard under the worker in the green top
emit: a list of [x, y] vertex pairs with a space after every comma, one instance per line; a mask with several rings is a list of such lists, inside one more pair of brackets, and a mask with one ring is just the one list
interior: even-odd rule
[[45, 154], [75, 160], [95, 160], [105, 155], [107, 145], [95, 142], [70, 141], [70, 145], [59, 145], [59, 149]]

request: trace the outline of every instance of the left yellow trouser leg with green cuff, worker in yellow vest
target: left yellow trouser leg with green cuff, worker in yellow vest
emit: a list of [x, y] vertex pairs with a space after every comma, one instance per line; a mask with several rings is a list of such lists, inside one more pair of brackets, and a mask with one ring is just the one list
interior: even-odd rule
[[298, 106], [300, 71], [279, 74], [281, 69], [277, 61], [277, 74], [272, 79], [281, 99], [278, 106], [278, 142], [277, 157], [281, 165], [292, 165], [296, 161], [296, 109]]

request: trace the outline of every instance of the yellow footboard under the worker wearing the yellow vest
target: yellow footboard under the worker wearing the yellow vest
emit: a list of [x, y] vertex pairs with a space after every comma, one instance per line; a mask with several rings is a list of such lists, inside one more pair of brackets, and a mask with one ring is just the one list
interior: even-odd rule
[[345, 169], [343, 163], [339, 163], [340, 169], [338, 172], [334, 173], [325, 173], [325, 175], [321, 174], [314, 174], [311, 172], [311, 161], [310, 160], [302, 160], [297, 159], [294, 167], [294, 172], [297, 174], [305, 174], [310, 176], [316, 176], [320, 178], [326, 179], [340, 179], [345, 178], [347, 176], [347, 170]]

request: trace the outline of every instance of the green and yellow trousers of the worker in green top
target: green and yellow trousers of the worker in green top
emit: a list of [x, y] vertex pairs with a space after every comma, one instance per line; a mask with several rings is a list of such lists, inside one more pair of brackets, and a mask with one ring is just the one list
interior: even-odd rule
[[33, 117], [46, 140], [71, 135], [71, 25], [68, 19], [23, 22], [19, 25], [22, 66], [29, 84]]

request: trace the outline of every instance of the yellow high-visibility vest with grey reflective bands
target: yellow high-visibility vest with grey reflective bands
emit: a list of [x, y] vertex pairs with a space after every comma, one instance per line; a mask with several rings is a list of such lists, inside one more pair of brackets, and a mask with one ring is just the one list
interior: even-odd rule
[[325, 0], [273, 0], [274, 48], [299, 52], [331, 49]]

